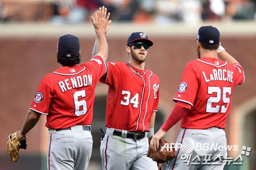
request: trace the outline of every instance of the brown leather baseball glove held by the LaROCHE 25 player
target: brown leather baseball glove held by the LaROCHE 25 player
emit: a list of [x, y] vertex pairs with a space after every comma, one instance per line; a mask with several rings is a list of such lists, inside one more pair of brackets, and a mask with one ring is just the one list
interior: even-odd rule
[[173, 148], [172, 151], [167, 151], [165, 148], [163, 151], [161, 151], [162, 146], [165, 145], [166, 142], [165, 140], [160, 139], [159, 140], [159, 148], [156, 152], [153, 151], [153, 149], [150, 147], [150, 141], [152, 139], [152, 136], [149, 136], [148, 142], [149, 142], [149, 147], [148, 147], [148, 152], [147, 152], [147, 157], [152, 158], [153, 161], [156, 161], [157, 163], [165, 163], [167, 161], [170, 161], [175, 158], [175, 150]]

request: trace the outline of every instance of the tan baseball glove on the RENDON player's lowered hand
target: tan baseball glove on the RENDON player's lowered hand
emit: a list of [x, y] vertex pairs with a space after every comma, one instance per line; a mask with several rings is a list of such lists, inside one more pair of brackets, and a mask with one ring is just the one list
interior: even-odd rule
[[18, 131], [13, 134], [10, 134], [6, 141], [6, 150], [8, 156], [11, 159], [10, 161], [14, 162], [18, 161], [18, 150], [27, 149], [27, 136], [25, 136], [23, 139], [19, 141], [17, 134]]

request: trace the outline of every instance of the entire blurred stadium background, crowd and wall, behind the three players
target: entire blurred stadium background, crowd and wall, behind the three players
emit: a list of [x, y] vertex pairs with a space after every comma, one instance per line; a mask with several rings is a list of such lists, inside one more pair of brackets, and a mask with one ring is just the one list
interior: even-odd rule
[[[117, 1], [119, 3], [115, 3]], [[242, 166], [227, 166], [225, 170], [255, 170], [256, 0], [223, 0], [226, 8], [220, 15], [209, 10], [209, 0], [189, 0], [189, 4], [194, 2], [194, 5], [200, 2], [200, 9], [194, 10], [191, 10], [192, 4], [188, 5], [190, 10], [180, 6], [182, 3], [179, 2], [183, 0], [117, 1], [0, 0], [0, 136], [3, 138], [0, 140], [0, 170], [47, 169], [46, 116], [41, 116], [27, 134], [28, 147], [26, 151], [20, 150], [18, 162], [7, 163], [6, 138], [20, 130], [41, 79], [59, 68], [56, 62], [59, 36], [78, 36], [82, 62], [91, 59], [95, 33], [90, 16], [98, 9], [97, 6], [102, 5], [108, 6], [110, 19], [113, 20], [107, 34], [108, 61], [128, 62], [125, 45], [132, 32], [144, 31], [154, 42], [146, 67], [159, 76], [161, 83], [155, 132], [174, 106], [172, 98], [185, 65], [197, 58], [193, 39], [198, 28], [203, 25], [219, 28], [222, 45], [243, 66], [246, 76], [245, 83], [234, 90], [233, 105], [225, 129], [228, 144], [239, 146], [239, 150], [229, 152], [229, 156], [236, 158], [242, 146], [252, 148], [250, 157], [246, 157]], [[126, 9], [134, 10], [129, 10], [133, 11], [130, 14], [123, 13], [122, 10]], [[200, 19], [185, 19], [183, 14], [187, 11], [192, 12], [187, 17], [195, 14]], [[99, 128], [104, 127], [106, 94], [107, 86], [99, 83], [95, 93], [92, 122], [94, 142], [88, 170], [101, 170]], [[178, 123], [168, 131], [166, 140], [175, 142], [179, 130]]]

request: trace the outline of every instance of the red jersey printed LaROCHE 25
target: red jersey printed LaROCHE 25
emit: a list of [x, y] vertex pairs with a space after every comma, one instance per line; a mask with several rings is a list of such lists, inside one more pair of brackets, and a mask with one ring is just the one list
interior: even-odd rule
[[203, 57], [188, 63], [173, 100], [192, 106], [181, 127], [225, 128], [236, 85], [244, 82], [242, 67], [216, 58]]

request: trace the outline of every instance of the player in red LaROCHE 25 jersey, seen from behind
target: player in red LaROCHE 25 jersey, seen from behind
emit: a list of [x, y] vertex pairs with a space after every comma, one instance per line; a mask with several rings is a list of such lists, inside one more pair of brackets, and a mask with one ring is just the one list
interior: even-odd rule
[[216, 27], [199, 29], [196, 38], [199, 59], [186, 65], [173, 98], [176, 105], [150, 142], [156, 151], [159, 139], [181, 119], [182, 130], [176, 143], [183, 145], [176, 151], [176, 158], [169, 161], [167, 170], [224, 168], [227, 151], [223, 148], [227, 139], [223, 129], [234, 87], [242, 84], [245, 76], [238, 61], [220, 45], [219, 37]]

